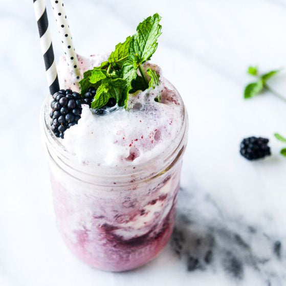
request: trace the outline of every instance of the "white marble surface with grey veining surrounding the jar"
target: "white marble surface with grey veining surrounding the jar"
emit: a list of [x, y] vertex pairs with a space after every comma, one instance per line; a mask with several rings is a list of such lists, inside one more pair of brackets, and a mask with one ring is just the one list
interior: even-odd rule
[[[83, 55], [110, 51], [144, 17], [163, 16], [152, 61], [177, 86], [190, 118], [177, 223], [186, 242], [181, 258], [173, 241], [149, 265], [117, 274], [91, 269], [65, 248], [40, 143], [38, 114], [48, 88], [32, 1], [1, 1], [0, 285], [286, 285], [286, 158], [273, 138], [275, 131], [286, 135], [286, 104], [271, 94], [242, 97], [249, 64], [262, 71], [286, 67], [286, 1], [65, 4]], [[282, 73], [271, 84], [286, 96], [285, 79]], [[239, 156], [240, 140], [251, 135], [271, 139], [271, 158], [248, 162]], [[209, 237], [215, 239], [212, 263], [187, 271], [188, 256], [202, 261]], [[276, 240], [280, 258], [273, 253]]]

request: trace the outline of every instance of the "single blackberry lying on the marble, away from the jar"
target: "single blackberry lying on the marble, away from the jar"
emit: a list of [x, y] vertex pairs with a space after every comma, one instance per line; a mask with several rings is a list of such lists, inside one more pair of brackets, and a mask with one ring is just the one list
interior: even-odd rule
[[262, 159], [271, 155], [268, 146], [269, 139], [261, 137], [248, 137], [240, 143], [240, 154], [248, 160]]

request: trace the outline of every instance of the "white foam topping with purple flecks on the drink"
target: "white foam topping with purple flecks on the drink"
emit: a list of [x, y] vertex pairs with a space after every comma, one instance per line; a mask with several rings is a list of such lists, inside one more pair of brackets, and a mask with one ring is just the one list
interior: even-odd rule
[[[92, 69], [104, 56], [79, 57], [81, 72]], [[61, 87], [73, 89], [73, 78], [64, 60], [58, 66]], [[156, 65], [145, 64], [160, 72]], [[161, 102], [154, 99], [161, 96]], [[138, 164], [159, 155], [176, 138], [182, 125], [182, 102], [177, 91], [160, 76], [155, 89], [129, 95], [129, 111], [118, 107], [104, 116], [82, 105], [78, 124], [67, 129], [62, 144], [81, 162], [104, 166]], [[59, 139], [61, 140], [61, 139]]]

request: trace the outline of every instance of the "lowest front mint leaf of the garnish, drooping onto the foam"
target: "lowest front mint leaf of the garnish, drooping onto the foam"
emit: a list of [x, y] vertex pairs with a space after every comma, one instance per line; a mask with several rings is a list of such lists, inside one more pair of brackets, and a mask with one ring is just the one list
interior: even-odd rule
[[[92, 108], [100, 108], [104, 106], [109, 98], [115, 98], [116, 102], [124, 102], [125, 98], [122, 98], [123, 91], [126, 86], [126, 80], [117, 78], [117, 79], [111, 79], [106, 78], [101, 81], [100, 86], [98, 87], [95, 97], [92, 101]], [[126, 97], [123, 96], [123, 97]], [[120, 105], [122, 106], [122, 105]]]

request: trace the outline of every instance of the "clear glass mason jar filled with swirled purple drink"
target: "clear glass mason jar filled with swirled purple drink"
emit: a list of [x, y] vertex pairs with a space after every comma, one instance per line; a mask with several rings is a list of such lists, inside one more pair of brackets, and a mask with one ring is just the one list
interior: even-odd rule
[[[180, 98], [181, 100], [181, 98]], [[106, 271], [137, 268], [155, 258], [174, 227], [188, 118], [168, 148], [138, 165], [79, 162], [50, 128], [50, 96], [40, 114], [59, 232], [88, 265]], [[183, 105], [183, 101], [181, 100]], [[184, 106], [184, 105], [183, 105]]]

